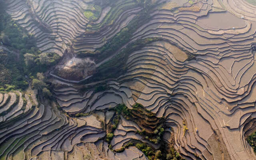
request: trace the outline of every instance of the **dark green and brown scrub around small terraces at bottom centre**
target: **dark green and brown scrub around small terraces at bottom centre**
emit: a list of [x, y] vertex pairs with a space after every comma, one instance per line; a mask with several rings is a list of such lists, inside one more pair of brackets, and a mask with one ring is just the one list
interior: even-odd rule
[[[164, 128], [166, 128], [164, 124], [164, 119], [157, 118], [154, 113], [150, 112], [149, 110], [146, 110], [146, 108], [144, 108], [142, 104], [135, 103], [132, 106], [132, 109], [129, 109], [125, 104], [118, 104], [117, 106], [115, 106], [114, 108], [110, 108], [109, 110], [116, 111], [116, 115], [112, 120], [112, 130], [106, 135], [106, 142], [108, 142], [108, 144], [114, 136], [114, 129], [116, 129], [116, 126], [118, 125], [120, 119], [120, 115], [122, 115], [124, 116], [124, 118], [132, 120], [142, 128], [141, 131], [137, 130], [137, 134], [140, 134], [145, 139], [160, 145], [160, 148], [158, 150], [155, 150], [154, 148], [152, 148], [152, 146], [149, 146], [146, 143], [141, 143], [138, 140], [131, 140], [125, 143], [122, 146], [122, 148], [114, 150], [114, 152], [123, 152], [126, 148], [130, 146], [135, 146], [139, 150], [141, 150], [148, 157], [149, 160], [184, 160], [180, 157], [179, 153], [174, 149], [173, 141], [171, 143], [166, 143], [164, 140], [162, 140]], [[141, 116], [142, 120], [140, 120], [140, 118], [136, 116], [136, 114]], [[147, 123], [150, 123], [153, 120], [154, 125], [157, 126], [151, 132], [149, 128], [151, 128], [152, 125], [148, 127], [145, 124], [140, 124], [142, 123], [142, 121], [146, 121], [146, 119], [150, 119], [150, 121], [147, 121]], [[109, 147], [110, 146], [111, 145], [109, 145]], [[112, 149], [112, 146], [110, 149]]]

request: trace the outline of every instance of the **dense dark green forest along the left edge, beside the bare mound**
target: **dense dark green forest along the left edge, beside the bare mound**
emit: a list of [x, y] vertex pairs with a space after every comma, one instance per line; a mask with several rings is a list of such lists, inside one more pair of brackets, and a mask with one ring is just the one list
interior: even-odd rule
[[24, 90], [36, 73], [46, 72], [60, 56], [38, 50], [34, 36], [12, 20], [2, 2], [0, 6], [0, 91]]

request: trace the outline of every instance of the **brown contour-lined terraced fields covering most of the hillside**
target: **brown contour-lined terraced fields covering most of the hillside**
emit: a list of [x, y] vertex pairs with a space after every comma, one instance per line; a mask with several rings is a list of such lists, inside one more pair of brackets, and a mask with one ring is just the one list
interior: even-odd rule
[[[136, 145], [125, 146], [160, 150], [143, 134], [158, 118], [161, 140], [186, 160], [256, 159], [245, 138], [256, 131], [251, 1], [5, 3], [40, 50], [63, 58], [47, 73], [53, 100], [38, 102], [32, 91], [0, 94], [0, 160], [147, 160]], [[144, 117], [144, 125], [142, 111], [129, 119], [115, 109], [137, 103], [156, 118]]]

